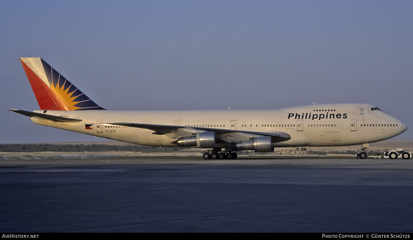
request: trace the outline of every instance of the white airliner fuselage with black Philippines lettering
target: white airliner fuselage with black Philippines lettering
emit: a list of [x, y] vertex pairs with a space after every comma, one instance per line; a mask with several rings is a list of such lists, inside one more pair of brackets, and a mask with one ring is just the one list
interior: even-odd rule
[[[152, 130], [107, 123], [131, 122], [251, 132], [285, 132], [291, 136], [288, 141], [272, 143], [273, 147], [365, 144], [392, 138], [407, 129], [400, 120], [381, 110], [372, 109], [374, 106], [369, 104], [328, 104], [280, 110], [47, 110], [47, 114], [80, 118], [82, 121], [57, 123], [36, 117], [31, 120], [36, 124], [150, 146], [177, 145], [171, 144], [176, 139], [164, 134], [152, 134]], [[86, 124], [92, 126], [86, 129]]]

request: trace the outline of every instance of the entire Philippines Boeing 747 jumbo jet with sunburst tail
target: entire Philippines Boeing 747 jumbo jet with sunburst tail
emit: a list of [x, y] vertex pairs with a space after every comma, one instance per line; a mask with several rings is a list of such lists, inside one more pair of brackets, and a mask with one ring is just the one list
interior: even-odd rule
[[[378, 142], [406, 131], [370, 104], [325, 104], [280, 110], [106, 110], [41, 58], [20, 58], [40, 110], [9, 109], [36, 124], [148, 146], [207, 149], [203, 157], [275, 147], [345, 146]], [[361, 153], [362, 158], [366, 154]]]

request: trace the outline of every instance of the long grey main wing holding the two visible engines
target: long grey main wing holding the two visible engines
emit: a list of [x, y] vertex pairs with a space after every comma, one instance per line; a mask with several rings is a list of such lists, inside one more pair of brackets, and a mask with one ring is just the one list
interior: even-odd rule
[[229, 129], [209, 128], [209, 127], [186, 127], [186, 126], [157, 125], [157, 124], [131, 123], [131, 122], [113, 122], [113, 123], [107, 123], [107, 124], [149, 129], [149, 130], [154, 131], [152, 132], [152, 134], [158, 134], [158, 135], [165, 134], [166, 136], [170, 138], [191, 136], [191, 135], [195, 135], [198, 132], [215, 132], [216, 137], [223, 139], [224, 141], [227, 141], [227, 142], [248, 140], [248, 139], [253, 139], [254, 137], [261, 137], [261, 136], [271, 137], [271, 142], [284, 142], [284, 141], [291, 139], [291, 136], [285, 132], [252, 132], [252, 131], [229, 130]]

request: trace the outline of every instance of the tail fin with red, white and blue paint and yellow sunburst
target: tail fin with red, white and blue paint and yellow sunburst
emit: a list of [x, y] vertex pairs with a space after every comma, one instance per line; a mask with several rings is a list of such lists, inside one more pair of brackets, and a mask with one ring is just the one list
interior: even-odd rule
[[104, 110], [41, 58], [20, 58], [41, 110]]

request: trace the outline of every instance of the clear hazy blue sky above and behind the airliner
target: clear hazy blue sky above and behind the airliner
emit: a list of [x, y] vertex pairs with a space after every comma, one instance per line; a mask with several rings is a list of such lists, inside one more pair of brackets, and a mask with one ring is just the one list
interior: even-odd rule
[[[413, 1], [2, 1], [0, 143], [96, 141], [5, 110], [41, 57], [113, 110], [371, 103], [413, 139]], [[102, 139], [103, 140], [103, 139]]]

